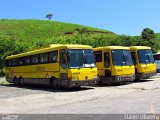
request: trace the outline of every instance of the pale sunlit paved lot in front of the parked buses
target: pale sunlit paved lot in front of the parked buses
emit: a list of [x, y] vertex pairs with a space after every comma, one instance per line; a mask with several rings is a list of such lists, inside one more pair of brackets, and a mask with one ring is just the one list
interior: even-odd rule
[[0, 85], [0, 113], [160, 114], [160, 74], [140, 82], [65, 90]]

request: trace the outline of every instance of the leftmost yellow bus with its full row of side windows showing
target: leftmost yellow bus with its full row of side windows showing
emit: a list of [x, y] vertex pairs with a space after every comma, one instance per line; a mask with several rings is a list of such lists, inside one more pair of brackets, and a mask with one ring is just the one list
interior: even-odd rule
[[6, 80], [16, 85], [79, 87], [97, 81], [92, 47], [53, 44], [6, 58]]

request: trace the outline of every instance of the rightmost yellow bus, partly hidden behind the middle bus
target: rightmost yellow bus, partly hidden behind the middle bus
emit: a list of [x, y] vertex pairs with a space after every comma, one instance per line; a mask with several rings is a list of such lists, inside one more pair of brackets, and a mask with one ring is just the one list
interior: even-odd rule
[[156, 74], [156, 64], [150, 47], [131, 46], [130, 51], [135, 65], [135, 80], [150, 78]]

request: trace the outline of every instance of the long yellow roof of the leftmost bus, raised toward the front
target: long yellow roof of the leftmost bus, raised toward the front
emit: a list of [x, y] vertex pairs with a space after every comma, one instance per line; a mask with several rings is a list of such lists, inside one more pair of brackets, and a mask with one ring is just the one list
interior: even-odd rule
[[25, 53], [8, 56], [6, 57], [6, 60], [19, 58], [19, 57], [25, 57], [29, 55], [35, 55], [35, 54], [39, 54], [43, 52], [50, 52], [52, 50], [59, 50], [59, 49], [92, 49], [92, 47], [89, 45], [78, 45], [78, 44], [51, 44], [47, 47], [41, 47], [41, 48], [33, 49]]

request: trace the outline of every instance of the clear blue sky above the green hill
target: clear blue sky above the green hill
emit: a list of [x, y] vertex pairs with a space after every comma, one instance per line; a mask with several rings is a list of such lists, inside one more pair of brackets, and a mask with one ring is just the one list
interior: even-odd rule
[[0, 0], [0, 19], [41, 19], [81, 24], [116, 34], [160, 32], [160, 0]]

